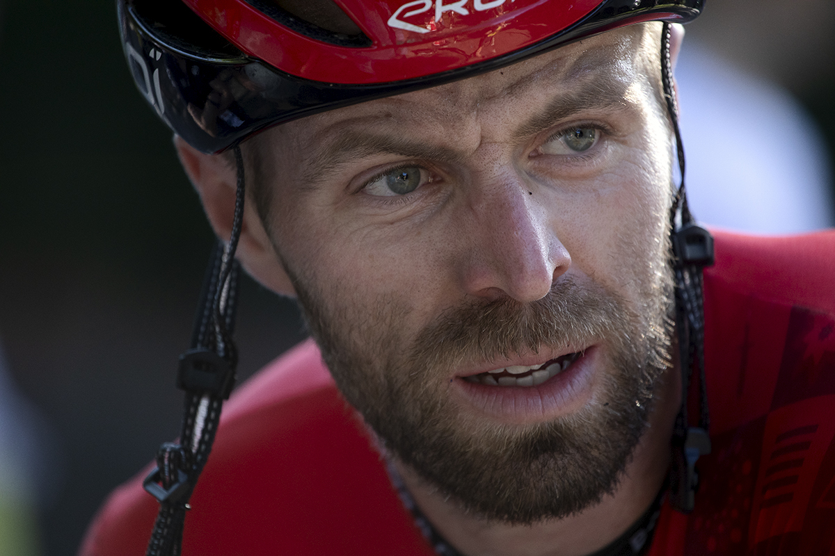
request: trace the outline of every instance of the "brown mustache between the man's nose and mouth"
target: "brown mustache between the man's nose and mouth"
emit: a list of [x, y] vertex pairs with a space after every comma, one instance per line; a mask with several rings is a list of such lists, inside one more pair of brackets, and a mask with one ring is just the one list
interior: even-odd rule
[[622, 336], [633, 318], [623, 300], [600, 284], [580, 285], [563, 276], [532, 303], [498, 298], [449, 308], [418, 335], [408, 361], [436, 368], [539, 353], [543, 347], [581, 348], [595, 339]]

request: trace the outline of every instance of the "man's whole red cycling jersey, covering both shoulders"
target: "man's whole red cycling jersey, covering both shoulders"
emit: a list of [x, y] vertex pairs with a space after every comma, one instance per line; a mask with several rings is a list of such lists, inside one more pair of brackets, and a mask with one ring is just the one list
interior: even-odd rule
[[[706, 273], [713, 452], [696, 511], [663, 508], [650, 556], [835, 554], [835, 232], [716, 233]], [[115, 491], [83, 556], [144, 554], [157, 510]], [[306, 342], [226, 404], [185, 554], [430, 556]]]

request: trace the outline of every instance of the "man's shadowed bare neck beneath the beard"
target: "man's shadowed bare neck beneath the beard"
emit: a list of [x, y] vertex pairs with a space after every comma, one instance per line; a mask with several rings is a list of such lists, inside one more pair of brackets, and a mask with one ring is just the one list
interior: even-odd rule
[[649, 426], [615, 489], [593, 507], [563, 519], [530, 525], [488, 521], [394, 460], [417, 506], [438, 533], [468, 556], [584, 556], [620, 537], [655, 500], [670, 461], [670, 438], [681, 404], [681, 373], [670, 369], [658, 386]]

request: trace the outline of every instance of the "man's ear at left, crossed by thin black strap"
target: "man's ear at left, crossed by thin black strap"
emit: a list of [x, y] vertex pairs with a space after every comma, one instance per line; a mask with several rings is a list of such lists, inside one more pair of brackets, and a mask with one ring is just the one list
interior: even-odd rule
[[[201, 153], [176, 135], [174, 144], [186, 175], [200, 195], [215, 235], [228, 242], [235, 217], [235, 163], [230, 163], [224, 155]], [[249, 195], [245, 196], [244, 219], [235, 257], [265, 288], [281, 295], [296, 296]]]

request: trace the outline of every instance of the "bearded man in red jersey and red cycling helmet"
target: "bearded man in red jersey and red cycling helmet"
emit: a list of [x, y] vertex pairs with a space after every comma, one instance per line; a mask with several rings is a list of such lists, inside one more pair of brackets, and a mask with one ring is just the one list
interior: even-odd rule
[[[178, 553], [184, 516], [201, 554], [826, 553], [835, 237], [721, 235], [702, 328], [711, 238], [673, 184], [681, 32], [647, 23], [699, 6], [465, 4], [189, 3], [263, 63], [122, 5], [228, 242], [183, 436], [144, 481], [149, 553]], [[206, 459], [232, 253], [299, 299], [316, 346], [235, 393]], [[142, 553], [139, 480], [82, 553]]]

